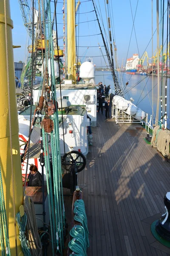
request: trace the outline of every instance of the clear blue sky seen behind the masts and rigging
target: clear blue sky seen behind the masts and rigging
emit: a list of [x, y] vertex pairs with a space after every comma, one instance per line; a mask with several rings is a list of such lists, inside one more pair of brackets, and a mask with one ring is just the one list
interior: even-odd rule
[[[96, 19], [94, 12], [82, 14], [84, 12], [89, 12], [93, 10], [91, 1], [88, 1], [88, 2], [83, 2], [83, 1], [84, 0], [82, 0], [79, 13], [77, 14], [77, 22], [78, 21], [79, 22], [88, 21], [88, 22], [79, 24], [79, 35], [86, 35], [85, 37], [79, 38], [79, 46], [86, 46], [86, 47], [98, 46], [98, 43], [100, 45], [103, 45], [101, 35], [88, 36], [88, 35], [98, 34], [99, 27], [96, 21], [89, 22], [90, 20]], [[59, 0], [59, 2], [62, 2], [62, 0]], [[99, 3], [100, 3], [100, 9], [102, 11], [102, 17], [104, 20], [104, 26], [105, 26], [106, 32], [108, 32], [104, 0], [99, 0], [99, 1], [96, 0], [98, 9], [99, 9]], [[137, 3], [137, 0], [131, 0], [133, 17], [136, 10], [136, 3]], [[23, 25], [23, 19], [21, 17], [20, 6], [18, 1], [10, 0], [10, 4], [11, 4], [11, 18], [14, 23], [14, 29], [12, 31], [13, 44], [21, 45], [21, 48], [14, 49], [14, 61], [19, 61], [19, 60], [24, 61], [24, 58], [25, 58], [24, 56], [25, 56], [26, 47], [27, 47], [26, 46], [27, 32]], [[54, 5], [54, 3], [51, 3], [51, 5]], [[110, 0], [110, 6], [111, 6], [111, 0]], [[130, 9], [130, 0], [123, 0], [123, 1], [112, 0], [112, 6], [113, 6], [113, 19], [114, 19], [117, 55], [119, 59], [119, 64], [121, 65], [122, 58], [124, 59], [124, 64], [125, 64], [126, 57], [130, 58], [133, 55], [133, 53], [138, 53], [138, 49], [137, 49], [135, 34], [133, 30], [129, 52], [127, 55], [127, 49], [130, 41], [130, 34], [133, 26], [132, 14]], [[53, 8], [53, 6], [51, 8]], [[153, 0], [153, 11], [154, 11], [154, 17], [153, 17], [153, 31], [154, 31], [156, 29], [156, 0]], [[61, 15], [57, 15], [57, 22], [62, 23], [62, 3], [57, 4], [57, 13], [61, 13]], [[100, 23], [102, 24], [101, 20], [100, 20]], [[142, 56], [151, 38], [151, 0], [139, 0], [134, 24], [136, 29], [136, 38], [137, 38], [138, 47], [139, 47], [139, 55]], [[62, 35], [62, 29], [63, 29], [63, 25], [58, 24], [59, 35]], [[102, 30], [104, 32], [103, 27], [102, 27]], [[62, 39], [59, 40], [59, 46], [62, 47]], [[79, 48], [79, 56], [85, 55], [85, 51], [87, 49], [86, 47]], [[153, 49], [154, 49], [153, 51], [155, 51], [156, 49], [156, 35], [154, 36]], [[104, 47], [102, 47], [102, 52], [105, 55]], [[151, 57], [152, 55], [151, 43], [147, 48], [147, 53], [148, 53], [148, 56]], [[99, 55], [101, 55], [99, 48], [91, 47], [88, 49], [85, 56], [88, 57], [88, 56], [99, 56]], [[96, 66], [101, 66], [101, 63], [104, 64], [102, 57], [95, 57], [94, 62], [96, 63]]]

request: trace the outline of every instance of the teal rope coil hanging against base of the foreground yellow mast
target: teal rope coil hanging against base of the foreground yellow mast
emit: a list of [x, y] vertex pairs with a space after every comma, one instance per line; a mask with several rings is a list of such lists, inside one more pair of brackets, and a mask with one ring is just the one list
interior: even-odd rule
[[31, 256], [30, 253], [30, 245], [28, 243], [28, 240], [26, 239], [26, 224], [27, 224], [27, 215], [24, 212], [24, 215], [21, 217], [20, 212], [17, 212], [16, 214], [16, 221], [19, 228], [19, 239], [21, 241], [21, 247], [24, 256]]

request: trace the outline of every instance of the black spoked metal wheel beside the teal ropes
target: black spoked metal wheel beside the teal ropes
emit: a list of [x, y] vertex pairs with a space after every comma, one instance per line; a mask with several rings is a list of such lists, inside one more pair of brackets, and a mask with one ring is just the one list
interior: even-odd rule
[[77, 167], [77, 172], [81, 172], [86, 166], [85, 156], [76, 150], [69, 151], [62, 157], [62, 167], [66, 171], [69, 171], [73, 165]]

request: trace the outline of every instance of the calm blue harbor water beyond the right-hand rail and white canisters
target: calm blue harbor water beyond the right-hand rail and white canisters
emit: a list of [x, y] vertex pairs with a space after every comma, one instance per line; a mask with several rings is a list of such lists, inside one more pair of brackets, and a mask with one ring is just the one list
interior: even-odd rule
[[[138, 108], [141, 108], [143, 111], [152, 115], [152, 76], [140, 76], [140, 75], [129, 75], [126, 73], [116, 73], [119, 81], [122, 79], [125, 98], [130, 99], [133, 98], [135, 104]], [[161, 76], [160, 76], [161, 79]], [[160, 96], [162, 94], [162, 106], [163, 106], [163, 114], [164, 114], [164, 99], [165, 99], [165, 80], [160, 80]], [[111, 90], [114, 90], [113, 86], [113, 78], [111, 72], [109, 71], [96, 71], [96, 84], [100, 81], [103, 82], [106, 86], [111, 85]], [[126, 86], [126, 83], [128, 85]], [[153, 77], [153, 120], [155, 121], [156, 116], [156, 107], [157, 107], [157, 99], [158, 99], [158, 88], [157, 88], [157, 77]], [[162, 87], [162, 93], [161, 93]], [[170, 79], [167, 78], [167, 128], [170, 128]], [[148, 116], [150, 118], [150, 116]], [[161, 101], [159, 101], [159, 120], [161, 119]], [[153, 123], [155, 123], [153, 121]]]

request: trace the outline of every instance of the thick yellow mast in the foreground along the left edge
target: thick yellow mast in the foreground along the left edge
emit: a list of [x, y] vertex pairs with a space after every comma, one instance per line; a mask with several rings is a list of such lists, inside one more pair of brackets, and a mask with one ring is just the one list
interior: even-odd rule
[[[15, 249], [15, 229], [14, 229], [14, 204], [16, 213], [23, 204], [23, 186], [22, 172], [20, 162], [20, 146], [18, 137], [18, 116], [17, 101], [15, 91], [15, 75], [14, 75], [14, 57], [12, 46], [12, 28], [13, 22], [10, 15], [9, 0], [6, 0], [7, 15], [7, 35], [8, 35], [8, 63], [6, 59], [6, 29], [5, 29], [5, 10], [4, 0], [0, 0], [0, 166], [3, 178], [3, 192], [6, 204], [6, 215], [9, 230], [9, 242], [11, 255], [16, 255]], [[7, 70], [8, 69], [8, 70]], [[10, 147], [10, 124], [8, 111], [8, 80], [9, 74], [10, 84], [10, 105], [11, 105], [11, 135], [12, 135], [12, 155], [13, 155], [13, 171], [14, 171], [14, 195], [13, 201], [13, 185], [11, 174], [11, 147]], [[19, 231], [17, 230], [17, 255], [23, 255], [20, 241]], [[1, 254], [1, 248], [0, 248]]]

